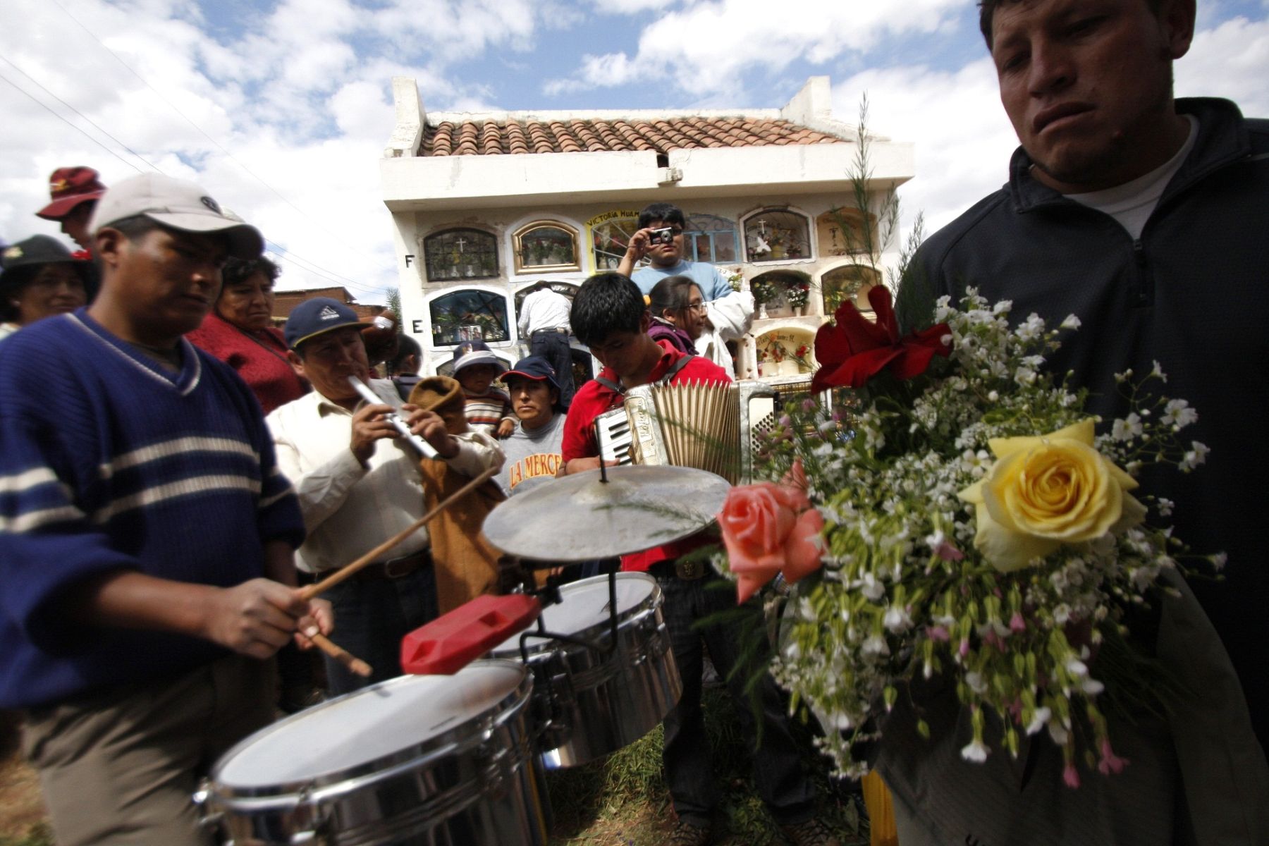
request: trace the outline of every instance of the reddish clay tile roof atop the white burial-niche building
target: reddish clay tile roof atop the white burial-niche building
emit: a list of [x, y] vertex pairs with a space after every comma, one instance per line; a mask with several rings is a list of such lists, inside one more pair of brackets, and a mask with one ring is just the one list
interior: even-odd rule
[[773, 118], [665, 117], [567, 120], [442, 120], [423, 133], [424, 156], [610, 152], [843, 143], [836, 136]]

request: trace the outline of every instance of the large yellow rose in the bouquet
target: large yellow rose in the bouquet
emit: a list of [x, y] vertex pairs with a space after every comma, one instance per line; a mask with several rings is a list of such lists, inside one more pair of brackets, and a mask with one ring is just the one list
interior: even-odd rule
[[1128, 493], [1137, 482], [1093, 448], [1093, 420], [1038, 438], [994, 438], [989, 445], [996, 463], [959, 496], [975, 505], [973, 545], [1001, 572], [1146, 516]]

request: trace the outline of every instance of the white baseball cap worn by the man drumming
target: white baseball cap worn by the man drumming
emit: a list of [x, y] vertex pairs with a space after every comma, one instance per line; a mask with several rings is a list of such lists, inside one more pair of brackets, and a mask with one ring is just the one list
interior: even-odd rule
[[194, 183], [162, 174], [141, 174], [115, 183], [98, 200], [89, 231], [143, 214], [180, 232], [218, 232], [228, 238], [235, 259], [259, 259], [264, 237], [259, 230], [226, 214], [220, 203]]

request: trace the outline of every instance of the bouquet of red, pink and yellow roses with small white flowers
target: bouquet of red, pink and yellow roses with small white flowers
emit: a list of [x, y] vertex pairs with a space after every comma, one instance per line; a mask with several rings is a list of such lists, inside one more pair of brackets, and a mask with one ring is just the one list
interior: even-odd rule
[[[820, 717], [848, 776], [867, 771], [851, 745], [879, 737], [906, 682], [935, 674], [971, 712], [964, 758], [1016, 756], [1023, 733], [1043, 732], [1070, 786], [1080, 753], [1118, 772], [1099, 705], [1118, 680], [1095, 658], [1123, 643], [1123, 610], [1184, 549], [1152, 525], [1171, 504], [1134, 496], [1133, 474], [1200, 464], [1206, 448], [1180, 439], [1197, 412], [1159, 396], [1157, 367], [1126, 373], [1133, 411], [1096, 434], [1085, 393], [1041, 370], [1077, 318], [1010, 329], [1010, 303], [971, 289], [901, 337], [890, 292], [868, 297], [876, 323], [848, 302], [815, 345], [812, 389], [854, 388], [854, 407], [786, 407], [764, 446], [780, 481], [733, 488], [718, 517], [718, 563], [741, 601], [778, 573], [798, 582], [777, 680]], [[989, 714], [999, 736], [986, 736]]]

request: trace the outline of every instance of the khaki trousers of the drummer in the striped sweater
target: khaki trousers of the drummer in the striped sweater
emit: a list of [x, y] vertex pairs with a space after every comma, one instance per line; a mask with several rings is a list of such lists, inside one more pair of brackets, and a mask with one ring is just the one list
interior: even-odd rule
[[58, 846], [211, 846], [190, 795], [273, 701], [273, 662], [230, 656], [29, 710], [23, 747]]

